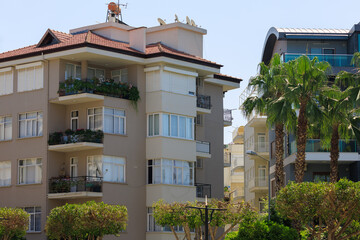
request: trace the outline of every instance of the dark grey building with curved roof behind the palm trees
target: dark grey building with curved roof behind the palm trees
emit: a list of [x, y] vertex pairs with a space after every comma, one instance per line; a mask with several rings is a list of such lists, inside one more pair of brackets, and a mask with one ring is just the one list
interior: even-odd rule
[[[281, 54], [282, 60], [287, 62], [303, 54], [310, 59], [318, 57], [320, 61], [327, 61], [332, 66], [333, 78], [341, 70], [353, 71], [351, 59], [360, 50], [360, 24], [351, 29], [303, 29], [303, 28], [270, 28], [264, 43], [262, 61], [268, 64], [271, 57]], [[296, 137], [288, 134], [285, 139], [285, 181], [294, 181], [294, 161], [296, 158]], [[271, 148], [271, 182], [274, 196], [275, 171], [275, 133], [269, 132]], [[360, 165], [358, 144], [355, 140], [339, 141], [339, 177], [353, 181], [360, 179]], [[328, 181], [330, 175], [330, 154], [323, 149], [319, 139], [308, 139], [306, 145], [306, 171], [304, 180]]]

